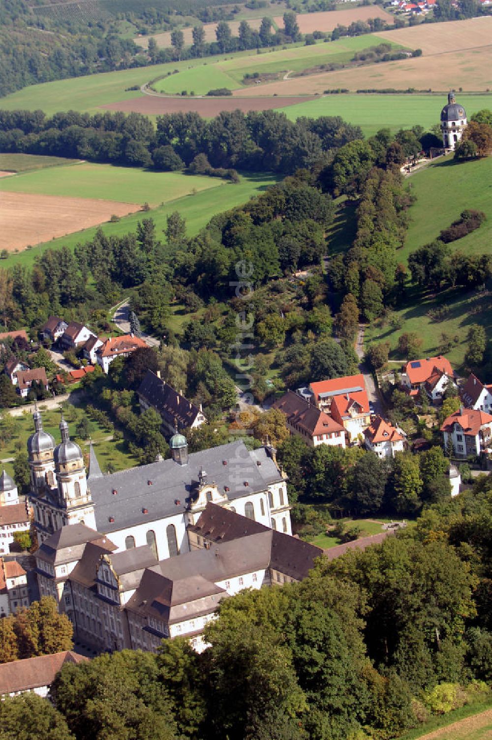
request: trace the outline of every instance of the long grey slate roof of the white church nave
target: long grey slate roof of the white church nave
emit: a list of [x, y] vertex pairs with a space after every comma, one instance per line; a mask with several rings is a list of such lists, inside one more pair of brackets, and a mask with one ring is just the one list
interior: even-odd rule
[[[243, 442], [195, 452], [188, 460], [187, 465], [161, 460], [91, 479], [98, 531], [106, 534], [183, 514], [198, 485], [200, 468], [207, 471], [209, 482], [215, 482], [229, 500], [265, 491], [270, 483], [283, 480], [265, 448], [252, 454]], [[229, 491], [225, 491], [226, 488]]]

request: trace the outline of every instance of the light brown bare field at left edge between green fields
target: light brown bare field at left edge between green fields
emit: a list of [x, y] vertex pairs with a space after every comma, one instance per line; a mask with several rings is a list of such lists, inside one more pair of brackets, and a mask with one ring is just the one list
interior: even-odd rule
[[24, 249], [140, 209], [136, 203], [1, 192], [0, 249]]

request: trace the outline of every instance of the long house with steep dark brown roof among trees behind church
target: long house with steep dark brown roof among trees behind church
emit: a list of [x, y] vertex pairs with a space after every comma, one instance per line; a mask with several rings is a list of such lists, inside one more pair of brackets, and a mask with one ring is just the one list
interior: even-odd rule
[[161, 379], [161, 372], [147, 370], [138, 391], [138, 400], [143, 411], [153, 408], [161, 415], [164, 429], [171, 434], [178, 429], [197, 428], [206, 423], [201, 406], [187, 400], [182, 391], [178, 393]]

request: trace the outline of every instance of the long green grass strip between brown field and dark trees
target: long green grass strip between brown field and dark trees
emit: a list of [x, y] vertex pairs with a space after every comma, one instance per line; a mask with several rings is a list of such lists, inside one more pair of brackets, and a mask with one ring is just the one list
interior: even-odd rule
[[[217, 180], [220, 191], [217, 188], [202, 190], [197, 195], [185, 195], [175, 201], [169, 201], [165, 206], [151, 209], [149, 212], [138, 212], [122, 218], [117, 223], [104, 223], [101, 225], [104, 233], [107, 235], [122, 235], [127, 232], [135, 231], [138, 221], [142, 218], [153, 218], [158, 232], [166, 228], [166, 218], [169, 213], [179, 211], [186, 218], [187, 232], [189, 236], [198, 234], [203, 226], [210, 221], [213, 215], [220, 213], [229, 208], [239, 206], [252, 197], [266, 189], [269, 185], [277, 181], [274, 175], [265, 173], [243, 175], [240, 183], [231, 184]], [[219, 195], [220, 194], [220, 195]], [[41, 244], [18, 254], [11, 254], [6, 260], [1, 261], [1, 266], [13, 266], [16, 264], [29, 266], [33, 264], [36, 256], [44, 249], [60, 248], [68, 246], [73, 249], [78, 242], [90, 240], [95, 234], [96, 228], [84, 229], [81, 232], [75, 232], [67, 237], [53, 239], [50, 242]]]

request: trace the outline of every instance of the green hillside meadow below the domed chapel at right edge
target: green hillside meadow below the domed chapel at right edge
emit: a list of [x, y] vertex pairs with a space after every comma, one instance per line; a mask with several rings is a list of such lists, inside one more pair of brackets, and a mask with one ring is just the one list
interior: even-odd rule
[[[408, 178], [411, 192], [417, 201], [410, 209], [410, 228], [405, 246], [398, 252], [399, 261], [439, 236], [441, 229], [450, 226], [465, 208], [484, 211], [487, 221], [477, 231], [450, 244], [451, 249], [476, 254], [489, 252], [492, 243], [492, 157], [470, 162], [456, 162], [453, 155]], [[429, 218], [429, 204], [439, 194], [439, 207], [433, 207]]]

